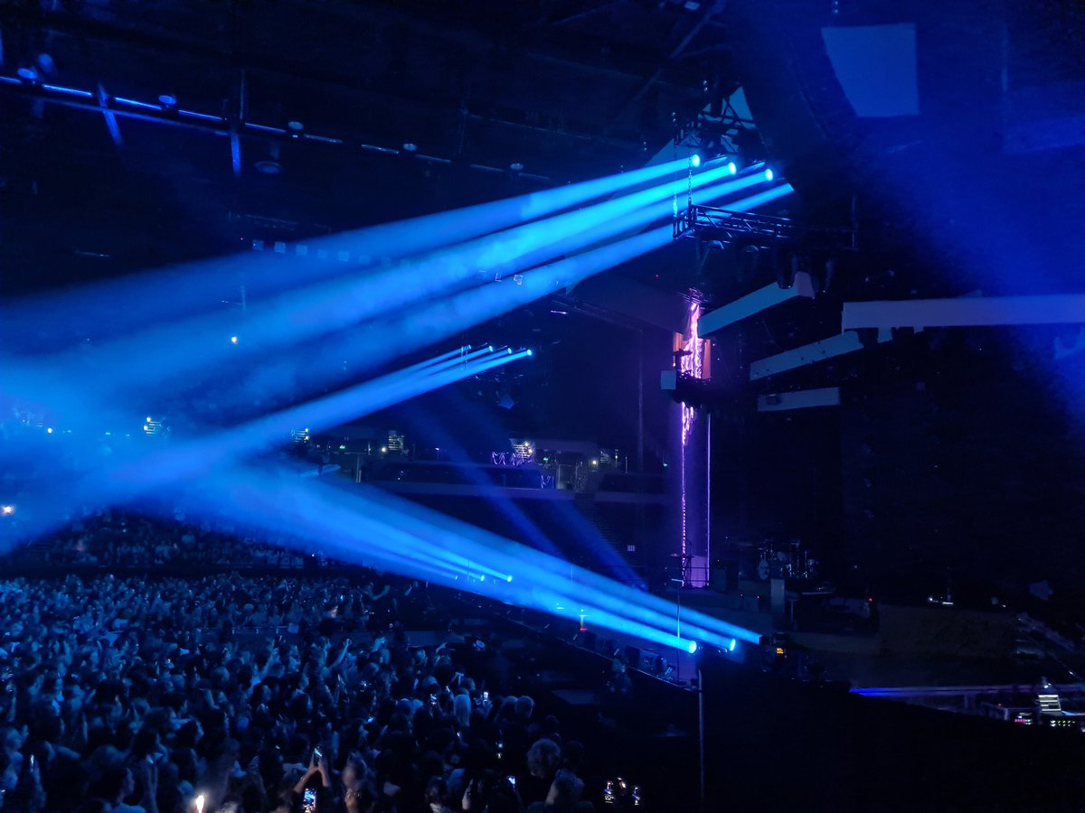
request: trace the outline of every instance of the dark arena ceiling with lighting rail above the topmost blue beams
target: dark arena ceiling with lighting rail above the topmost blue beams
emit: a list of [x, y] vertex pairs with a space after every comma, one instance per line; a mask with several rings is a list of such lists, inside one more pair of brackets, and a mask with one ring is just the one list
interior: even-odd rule
[[[232, 249], [256, 232], [334, 231], [641, 166], [675, 121], [733, 90], [722, 10], [7, 3], [5, 284], [114, 273]], [[17, 258], [40, 258], [43, 246], [67, 270], [20, 274]]]

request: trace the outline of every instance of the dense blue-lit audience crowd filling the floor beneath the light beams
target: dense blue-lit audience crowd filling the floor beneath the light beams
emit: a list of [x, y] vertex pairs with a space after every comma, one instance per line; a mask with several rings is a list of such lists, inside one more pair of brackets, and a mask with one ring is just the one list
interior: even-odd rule
[[[193, 550], [233, 564], [239, 547], [295, 558], [131, 516], [51, 550], [161, 566]], [[583, 748], [511, 694], [499, 642], [412, 644], [433, 601], [372, 572], [0, 579], [0, 809], [591, 810]]]

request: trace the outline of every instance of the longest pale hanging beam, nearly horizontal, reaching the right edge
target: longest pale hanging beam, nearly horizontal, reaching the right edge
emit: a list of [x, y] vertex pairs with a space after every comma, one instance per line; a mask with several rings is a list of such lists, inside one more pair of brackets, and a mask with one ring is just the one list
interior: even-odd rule
[[842, 331], [1081, 323], [1085, 294], [844, 302], [841, 317]]

